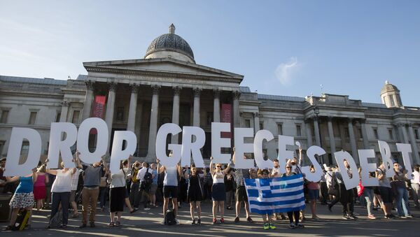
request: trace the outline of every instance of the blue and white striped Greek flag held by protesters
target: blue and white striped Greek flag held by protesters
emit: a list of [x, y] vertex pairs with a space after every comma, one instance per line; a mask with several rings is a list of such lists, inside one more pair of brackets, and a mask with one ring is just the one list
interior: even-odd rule
[[245, 179], [251, 213], [261, 215], [304, 209], [303, 176]]

